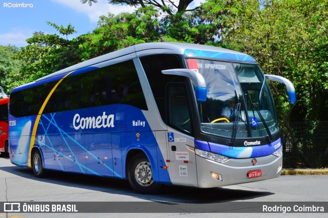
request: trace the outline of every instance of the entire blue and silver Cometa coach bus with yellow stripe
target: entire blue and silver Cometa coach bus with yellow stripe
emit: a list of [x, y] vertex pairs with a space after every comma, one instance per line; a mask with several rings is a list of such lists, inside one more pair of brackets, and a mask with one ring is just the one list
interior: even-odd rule
[[[249, 55], [212, 46], [146, 43], [16, 87], [10, 160], [32, 167], [198, 188], [278, 177], [282, 144], [267, 80]], [[228, 116], [224, 108], [232, 105]]]

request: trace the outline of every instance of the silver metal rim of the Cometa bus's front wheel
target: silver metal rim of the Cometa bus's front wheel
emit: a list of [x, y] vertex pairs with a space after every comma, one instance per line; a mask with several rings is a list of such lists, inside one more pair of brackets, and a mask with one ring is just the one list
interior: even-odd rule
[[134, 171], [135, 179], [141, 186], [150, 186], [153, 181], [152, 169], [149, 162], [141, 162]]

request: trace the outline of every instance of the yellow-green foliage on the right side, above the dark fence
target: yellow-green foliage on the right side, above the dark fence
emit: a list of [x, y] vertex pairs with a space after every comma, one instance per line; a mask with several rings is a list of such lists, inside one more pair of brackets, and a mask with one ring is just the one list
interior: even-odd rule
[[[242, 45], [237, 49], [255, 57], [265, 73], [293, 82], [298, 101], [292, 121], [328, 120], [327, 1], [273, 0], [262, 6], [239, 31], [230, 32], [228, 47]], [[275, 88], [285, 96], [284, 87]]]

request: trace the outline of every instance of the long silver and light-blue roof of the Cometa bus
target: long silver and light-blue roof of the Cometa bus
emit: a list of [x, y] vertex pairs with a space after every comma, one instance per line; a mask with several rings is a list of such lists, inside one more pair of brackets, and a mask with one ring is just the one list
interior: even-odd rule
[[112, 62], [111, 64], [119, 63], [122, 61], [131, 60], [136, 57], [152, 55], [152, 54], [181, 54], [191, 57], [199, 57], [199, 56], [212, 57], [212, 58], [221, 58], [226, 60], [256, 63], [254, 58], [247, 54], [229, 50], [229, 49], [220, 48], [220, 47], [206, 46], [206, 45], [199, 45], [199, 44], [189, 44], [189, 43], [143, 43], [128, 48], [124, 48], [121, 50], [117, 50], [108, 54], [104, 54], [92, 58], [88, 61], [81, 62], [79, 64], [65, 68], [63, 70], [59, 70], [57, 72], [39, 78], [34, 82], [22, 86], [18, 86], [14, 88], [13, 91], [24, 89], [25, 86], [30, 87], [33, 83], [44, 81], [47, 80], [48, 78], [52, 78], [74, 70], [80, 70], [99, 64], [106, 64], [107, 62]]

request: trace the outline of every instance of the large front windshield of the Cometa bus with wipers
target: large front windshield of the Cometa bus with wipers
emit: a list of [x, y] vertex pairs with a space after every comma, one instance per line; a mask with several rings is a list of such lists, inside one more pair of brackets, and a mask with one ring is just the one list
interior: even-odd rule
[[271, 137], [278, 130], [268, 83], [257, 64], [188, 59], [207, 85], [198, 102], [201, 130], [229, 138]]

